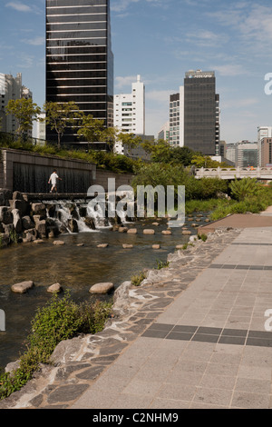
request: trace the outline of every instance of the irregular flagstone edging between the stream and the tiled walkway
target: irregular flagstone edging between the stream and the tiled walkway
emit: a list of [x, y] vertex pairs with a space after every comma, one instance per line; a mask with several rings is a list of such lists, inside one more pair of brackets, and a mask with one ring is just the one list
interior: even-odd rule
[[140, 286], [122, 283], [114, 293], [113, 317], [104, 330], [59, 343], [53, 364], [41, 366], [22, 390], [0, 401], [0, 409], [71, 407], [240, 231], [229, 227], [209, 233], [206, 242], [198, 240], [186, 250], [170, 253], [169, 267], [149, 270]]

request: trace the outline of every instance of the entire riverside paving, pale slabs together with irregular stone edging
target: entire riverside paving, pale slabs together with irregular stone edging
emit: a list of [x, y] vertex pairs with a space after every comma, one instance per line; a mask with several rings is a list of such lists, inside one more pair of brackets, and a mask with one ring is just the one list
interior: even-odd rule
[[129, 313], [61, 343], [59, 362], [0, 408], [271, 408], [271, 213], [240, 215], [239, 228], [228, 217], [170, 255], [169, 268], [128, 286]]

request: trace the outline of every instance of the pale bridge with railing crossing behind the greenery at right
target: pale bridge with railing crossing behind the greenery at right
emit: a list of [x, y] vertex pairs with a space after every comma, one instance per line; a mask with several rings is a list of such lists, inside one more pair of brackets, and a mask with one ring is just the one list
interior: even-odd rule
[[196, 178], [257, 178], [257, 179], [272, 179], [272, 167], [201, 167], [195, 169]]

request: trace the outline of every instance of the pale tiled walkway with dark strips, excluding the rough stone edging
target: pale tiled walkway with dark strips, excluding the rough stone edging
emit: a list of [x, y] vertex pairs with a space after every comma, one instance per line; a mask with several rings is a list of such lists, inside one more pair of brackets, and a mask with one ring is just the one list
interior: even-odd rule
[[272, 227], [245, 228], [72, 408], [270, 408], [270, 325]]

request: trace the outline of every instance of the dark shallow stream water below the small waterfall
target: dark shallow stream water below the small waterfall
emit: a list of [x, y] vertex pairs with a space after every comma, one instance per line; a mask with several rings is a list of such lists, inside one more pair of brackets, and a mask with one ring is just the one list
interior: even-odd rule
[[[138, 228], [137, 234], [112, 232], [108, 229], [99, 233], [65, 234], [60, 237], [63, 246], [45, 243], [24, 243], [0, 251], [0, 309], [5, 311], [5, 332], [0, 332], [0, 366], [15, 361], [24, 351], [24, 343], [30, 322], [37, 307], [44, 305], [51, 294], [46, 288], [61, 283], [69, 289], [77, 302], [91, 300], [89, 289], [94, 283], [112, 282], [118, 287], [130, 280], [133, 273], [143, 268], [154, 268], [157, 260], [166, 261], [176, 244], [186, 243], [188, 236], [180, 228], [172, 229], [171, 235], [162, 235], [166, 223], [153, 226], [145, 221], [145, 228], [153, 228], [155, 234], [143, 234], [142, 223], [129, 224]], [[199, 223], [200, 224], [200, 223]], [[196, 231], [192, 230], [192, 233]], [[83, 243], [83, 246], [77, 244]], [[97, 244], [109, 243], [107, 248]], [[132, 243], [132, 249], [123, 249], [122, 243]], [[160, 243], [160, 250], [151, 245]], [[34, 289], [29, 293], [12, 293], [14, 283], [31, 280]]]

